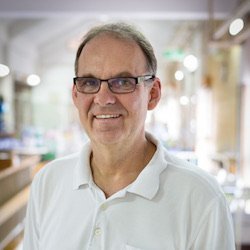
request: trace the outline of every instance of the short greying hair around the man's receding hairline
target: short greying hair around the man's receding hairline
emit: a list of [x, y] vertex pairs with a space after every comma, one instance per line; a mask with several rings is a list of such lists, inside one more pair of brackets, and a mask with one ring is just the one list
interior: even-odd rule
[[78, 60], [84, 46], [93, 38], [101, 34], [110, 34], [119, 39], [134, 41], [142, 50], [146, 58], [147, 70], [156, 74], [157, 60], [154, 54], [154, 49], [147, 38], [134, 26], [125, 23], [110, 23], [96, 26], [88, 31], [83, 37], [81, 44], [78, 47], [75, 58], [75, 74], [78, 73]]

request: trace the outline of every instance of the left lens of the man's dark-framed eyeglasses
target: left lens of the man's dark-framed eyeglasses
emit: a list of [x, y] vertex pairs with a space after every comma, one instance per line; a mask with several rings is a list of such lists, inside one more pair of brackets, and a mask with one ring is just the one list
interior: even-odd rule
[[95, 78], [79, 77], [76, 79], [76, 87], [79, 92], [95, 93], [99, 90], [100, 81]]

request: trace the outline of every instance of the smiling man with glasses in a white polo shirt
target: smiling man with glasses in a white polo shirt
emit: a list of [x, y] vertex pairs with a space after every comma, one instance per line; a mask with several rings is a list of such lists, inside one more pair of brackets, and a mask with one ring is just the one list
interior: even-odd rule
[[90, 141], [36, 175], [24, 250], [235, 249], [215, 180], [145, 132], [161, 96], [156, 64], [129, 25], [86, 34], [72, 98]]

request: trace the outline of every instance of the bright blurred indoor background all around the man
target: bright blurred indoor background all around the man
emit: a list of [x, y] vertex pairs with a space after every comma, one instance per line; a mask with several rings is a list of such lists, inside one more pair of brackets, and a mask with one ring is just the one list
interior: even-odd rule
[[0, 0], [0, 249], [22, 249], [36, 172], [87, 139], [71, 100], [75, 52], [111, 21], [155, 48], [163, 93], [147, 129], [217, 178], [237, 249], [250, 249], [250, 0]]

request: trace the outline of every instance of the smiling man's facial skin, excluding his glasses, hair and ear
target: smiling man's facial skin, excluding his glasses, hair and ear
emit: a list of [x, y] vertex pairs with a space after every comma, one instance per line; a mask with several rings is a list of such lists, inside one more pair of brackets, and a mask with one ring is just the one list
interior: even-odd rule
[[[146, 60], [134, 42], [100, 35], [88, 42], [78, 61], [78, 76], [109, 79], [148, 74]], [[115, 144], [139, 140], [151, 98], [151, 87], [140, 84], [132, 93], [112, 93], [107, 82], [95, 94], [83, 94], [73, 87], [72, 96], [81, 123], [94, 143]]]

